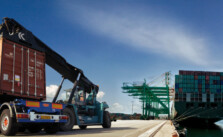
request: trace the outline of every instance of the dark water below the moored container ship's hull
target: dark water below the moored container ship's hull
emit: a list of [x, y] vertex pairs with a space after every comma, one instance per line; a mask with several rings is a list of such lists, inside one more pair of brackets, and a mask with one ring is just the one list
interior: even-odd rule
[[223, 120], [208, 128], [187, 128], [187, 137], [223, 137]]

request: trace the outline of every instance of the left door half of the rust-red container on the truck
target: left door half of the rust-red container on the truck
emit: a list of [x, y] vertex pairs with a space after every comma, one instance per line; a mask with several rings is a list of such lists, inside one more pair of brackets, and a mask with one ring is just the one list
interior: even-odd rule
[[2, 90], [23, 94], [23, 47], [4, 40], [2, 50]]

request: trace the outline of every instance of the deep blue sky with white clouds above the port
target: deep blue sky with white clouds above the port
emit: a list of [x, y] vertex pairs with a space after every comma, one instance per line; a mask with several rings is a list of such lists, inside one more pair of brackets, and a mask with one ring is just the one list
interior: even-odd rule
[[[149, 82], [167, 71], [223, 71], [219, 0], [0, 2], [0, 18], [14, 18], [82, 69], [111, 112], [132, 113], [132, 101], [141, 112], [140, 103], [122, 93], [123, 82]], [[61, 76], [47, 66], [46, 80], [52, 98]], [[63, 89], [71, 87], [65, 81]]]

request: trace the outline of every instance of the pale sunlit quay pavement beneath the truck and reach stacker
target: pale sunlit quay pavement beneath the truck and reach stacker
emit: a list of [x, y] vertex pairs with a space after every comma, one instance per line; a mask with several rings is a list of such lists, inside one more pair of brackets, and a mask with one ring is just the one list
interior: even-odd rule
[[[56, 134], [46, 134], [44, 131], [39, 133], [30, 133], [25, 131], [17, 133], [16, 136], [52, 136], [52, 137], [138, 137], [155, 126], [164, 123], [165, 120], [117, 120], [112, 122], [109, 129], [102, 126], [88, 126], [87, 129], [81, 130], [74, 126], [72, 131], [57, 132]], [[168, 122], [167, 122], [168, 123]], [[168, 130], [168, 129], [167, 129]], [[162, 134], [163, 135], [163, 134]], [[1, 135], [3, 136], [3, 135]]]

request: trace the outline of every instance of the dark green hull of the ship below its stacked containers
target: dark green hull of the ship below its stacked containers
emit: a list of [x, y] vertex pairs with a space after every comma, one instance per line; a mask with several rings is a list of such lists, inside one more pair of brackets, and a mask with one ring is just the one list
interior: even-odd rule
[[213, 125], [223, 118], [223, 103], [175, 102], [175, 121], [181, 125]]

